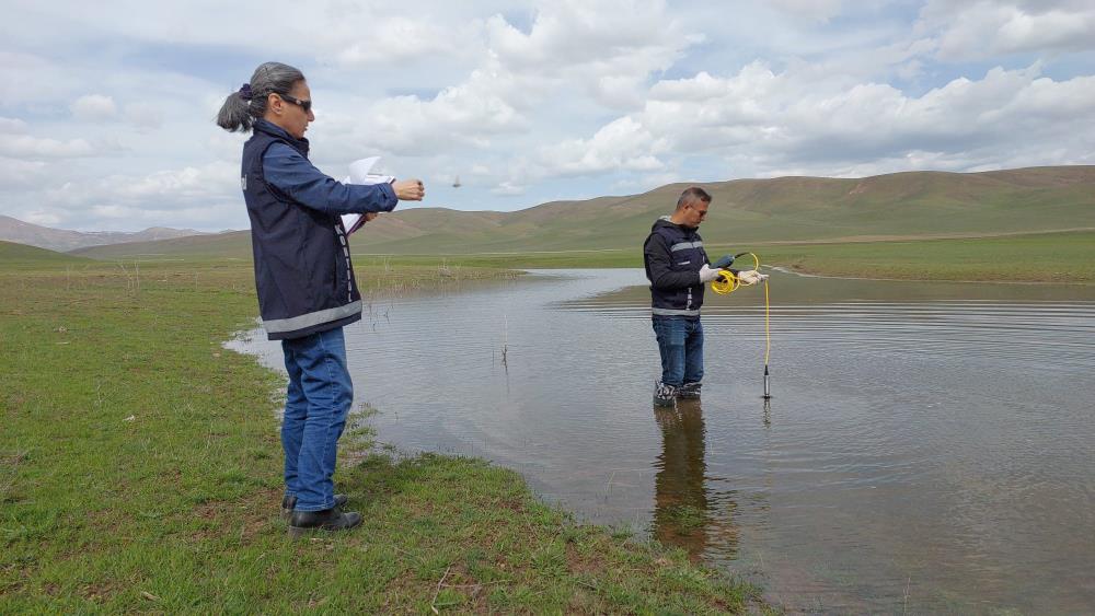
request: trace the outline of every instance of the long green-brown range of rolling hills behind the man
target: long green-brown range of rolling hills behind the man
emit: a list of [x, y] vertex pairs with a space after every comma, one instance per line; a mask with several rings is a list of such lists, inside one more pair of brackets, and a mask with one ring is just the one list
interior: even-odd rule
[[[960, 237], [1095, 229], [1095, 166], [983, 173], [909, 172], [874, 177], [776, 177], [682, 183], [642, 195], [555, 201], [515, 212], [415, 208], [382, 214], [350, 237], [355, 254], [470, 254], [633, 249], [681, 190], [714, 198], [708, 245]], [[247, 232], [87, 248], [138, 254], [251, 257]], [[1016, 258], [1019, 258], [1017, 255]]]

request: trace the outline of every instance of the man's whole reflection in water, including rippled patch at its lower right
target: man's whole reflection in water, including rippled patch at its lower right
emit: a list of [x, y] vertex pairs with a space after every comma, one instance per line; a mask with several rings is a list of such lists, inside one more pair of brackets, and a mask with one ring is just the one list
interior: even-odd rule
[[733, 491], [708, 498], [706, 431], [700, 400], [678, 400], [676, 408], [655, 406], [654, 419], [661, 429], [661, 455], [654, 464], [658, 473], [654, 478], [652, 535], [683, 548], [692, 560], [705, 555], [710, 536], [722, 557], [735, 558], [738, 533], [733, 513], [737, 504]]

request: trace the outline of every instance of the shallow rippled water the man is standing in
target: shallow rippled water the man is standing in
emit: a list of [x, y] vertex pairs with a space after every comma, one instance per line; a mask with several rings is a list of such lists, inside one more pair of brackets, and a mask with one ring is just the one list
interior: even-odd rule
[[1095, 289], [771, 282], [770, 404], [746, 288], [707, 294], [702, 403], [653, 409], [649, 293], [619, 269], [373, 300], [356, 399], [383, 442], [516, 468], [792, 612], [1095, 611]]

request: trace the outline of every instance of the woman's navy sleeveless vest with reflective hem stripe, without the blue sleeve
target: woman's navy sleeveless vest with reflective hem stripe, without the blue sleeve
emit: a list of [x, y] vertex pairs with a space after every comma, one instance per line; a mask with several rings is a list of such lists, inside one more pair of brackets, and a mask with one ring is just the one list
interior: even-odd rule
[[263, 155], [277, 142], [308, 156], [307, 139], [293, 139], [260, 121], [243, 146], [242, 166], [258, 309], [272, 340], [300, 338], [361, 318], [361, 295], [339, 216], [298, 204], [264, 177]]

